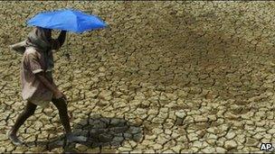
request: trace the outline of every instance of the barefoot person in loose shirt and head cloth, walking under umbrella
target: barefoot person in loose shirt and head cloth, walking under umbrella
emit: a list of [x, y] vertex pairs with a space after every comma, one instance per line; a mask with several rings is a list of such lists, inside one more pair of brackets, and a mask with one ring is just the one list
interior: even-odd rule
[[52, 69], [54, 67], [52, 50], [59, 50], [65, 38], [65, 31], [60, 33], [58, 39], [52, 39], [51, 29], [35, 27], [28, 34], [25, 41], [11, 46], [13, 50], [23, 53], [21, 65], [22, 96], [27, 101], [24, 111], [18, 115], [14, 126], [7, 132], [8, 138], [14, 145], [24, 143], [18, 139], [17, 131], [33, 115], [37, 105], [45, 108], [49, 106], [50, 102], [58, 109], [66, 140], [85, 140], [72, 135], [66, 96], [54, 84], [52, 78]]

